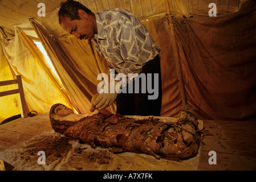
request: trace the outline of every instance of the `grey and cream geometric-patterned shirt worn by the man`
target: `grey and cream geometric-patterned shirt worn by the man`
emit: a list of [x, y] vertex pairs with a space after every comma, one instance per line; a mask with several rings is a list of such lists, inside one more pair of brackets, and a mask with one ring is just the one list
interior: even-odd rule
[[92, 43], [118, 73], [139, 74], [145, 63], [159, 55], [160, 47], [131, 12], [117, 8], [95, 16], [97, 34]]

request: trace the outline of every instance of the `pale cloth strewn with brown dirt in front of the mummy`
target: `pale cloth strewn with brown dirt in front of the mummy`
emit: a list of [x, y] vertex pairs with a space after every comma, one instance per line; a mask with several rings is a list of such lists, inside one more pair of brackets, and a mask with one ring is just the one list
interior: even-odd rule
[[[39, 164], [39, 151], [45, 152], [45, 163]], [[123, 152], [113, 154], [107, 148], [91, 148], [88, 144], [71, 140], [62, 134], [43, 132], [5, 151], [0, 152], [0, 159], [19, 170], [196, 170], [200, 150], [194, 158], [175, 162], [156, 159], [147, 154]]]

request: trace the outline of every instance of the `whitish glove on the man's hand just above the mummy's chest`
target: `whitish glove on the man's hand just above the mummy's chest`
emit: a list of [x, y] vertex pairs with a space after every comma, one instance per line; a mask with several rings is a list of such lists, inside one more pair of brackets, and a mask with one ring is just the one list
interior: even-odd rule
[[[115, 86], [118, 82], [115, 81]], [[110, 85], [110, 84], [109, 84]], [[97, 98], [96, 100], [94, 101], [94, 106], [97, 108], [97, 109], [104, 109], [105, 107], [108, 107], [110, 106], [115, 100], [116, 100], [116, 97], [117, 97], [117, 92], [114, 92], [114, 93], [110, 93], [110, 89], [108, 89], [108, 93], [101, 93]]]

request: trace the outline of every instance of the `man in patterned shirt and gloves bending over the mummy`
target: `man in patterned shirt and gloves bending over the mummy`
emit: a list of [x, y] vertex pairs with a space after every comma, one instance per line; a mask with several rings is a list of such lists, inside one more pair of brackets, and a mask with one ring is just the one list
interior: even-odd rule
[[[92, 13], [76, 1], [66, 1], [59, 10], [59, 24], [77, 39], [92, 40], [97, 52], [104, 56], [109, 67], [116, 73], [144, 74], [156, 76], [147, 79], [147, 84], [123, 86], [126, 93], [101, 93], [94, 102], [98, 109], [108, 107], [116, 100], [117, 113], [122, 115], [160, 115], [161, 111], [161, 70], [160, 47], [152, 40], [147, 28], [129, 11], [112, 9]], [[152, 75], [150, 75], [152, 74]], [[145, 81], [145, 80], [144, 80]], [[113, 84], [117, 85], [117, 81]], [[134, 86], [133, 86], [134, 85]], [[151, 93], [143, 93], [145, 86], [157, 85], [157, 99], [149, 100]], [[130, 89], [129, 89], [130, 88]], [[147, 86], [148, 88], [148, 86]], [[132, 89], [132, 93], [131, 93]], [[135, 93], [135, 90], [140, 90]], [[128, 90], [130, 92], [128, 92]]]

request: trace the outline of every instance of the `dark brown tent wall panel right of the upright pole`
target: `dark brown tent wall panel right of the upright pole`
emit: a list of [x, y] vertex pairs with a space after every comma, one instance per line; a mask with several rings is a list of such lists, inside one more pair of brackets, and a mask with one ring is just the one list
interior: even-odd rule
[[256, 117], [256, 3], [214, 18], [172, 18], [188, 103], [208, 119]]

